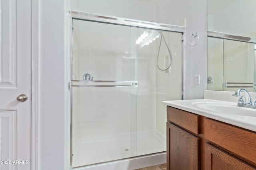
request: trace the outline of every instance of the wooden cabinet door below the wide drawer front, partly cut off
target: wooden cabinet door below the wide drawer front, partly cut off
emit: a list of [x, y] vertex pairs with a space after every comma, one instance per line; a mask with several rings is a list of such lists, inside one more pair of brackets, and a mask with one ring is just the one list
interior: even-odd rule
[[205, 145], [206, 170], [255, 170], [253, 166], [210, 144]]

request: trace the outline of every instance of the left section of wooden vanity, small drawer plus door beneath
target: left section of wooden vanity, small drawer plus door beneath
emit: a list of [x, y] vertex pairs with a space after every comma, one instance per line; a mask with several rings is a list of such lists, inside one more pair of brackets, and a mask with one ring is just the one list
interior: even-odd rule
[[200, 117], [167, 107], [167, 170], [200, 170]]

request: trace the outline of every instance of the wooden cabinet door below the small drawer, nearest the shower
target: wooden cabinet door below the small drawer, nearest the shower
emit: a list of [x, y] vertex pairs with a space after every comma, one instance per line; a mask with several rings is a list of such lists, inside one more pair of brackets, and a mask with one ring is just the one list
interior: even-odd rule
[[167, 123], [167, 170], [199, 170], [200, 139]]

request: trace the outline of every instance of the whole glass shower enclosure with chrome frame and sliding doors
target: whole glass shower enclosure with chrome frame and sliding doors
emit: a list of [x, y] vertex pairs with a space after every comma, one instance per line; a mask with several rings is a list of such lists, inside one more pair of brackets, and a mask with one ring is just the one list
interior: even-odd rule
[[71, 17], [72, 168], [165, 152], [162, 101], [182, 99], [184, 27]]

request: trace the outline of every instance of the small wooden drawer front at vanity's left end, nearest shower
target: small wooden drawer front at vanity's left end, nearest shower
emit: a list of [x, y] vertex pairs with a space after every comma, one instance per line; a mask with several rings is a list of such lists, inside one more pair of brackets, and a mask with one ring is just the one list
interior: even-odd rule
[[200, 116], [167, 106], [167, 120], [195, 134], [200, 134]]

